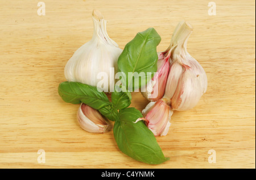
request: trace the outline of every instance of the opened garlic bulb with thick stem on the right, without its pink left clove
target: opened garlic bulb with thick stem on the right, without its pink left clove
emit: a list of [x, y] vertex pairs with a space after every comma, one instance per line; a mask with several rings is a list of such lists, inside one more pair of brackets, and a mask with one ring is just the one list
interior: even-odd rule
[[171, 99], [173, 110], [185, 111], [193, 108], [207, 91], [207, 75], [202, 66], [187, 52], [187, 41], [192, 26], [180, 22], [172, 35], [170, 47], [170, 72], [164, 98]]

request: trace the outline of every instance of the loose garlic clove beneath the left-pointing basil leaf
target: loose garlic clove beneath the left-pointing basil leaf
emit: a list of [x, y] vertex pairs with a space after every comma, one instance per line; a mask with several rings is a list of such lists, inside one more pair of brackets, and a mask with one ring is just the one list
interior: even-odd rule
[[109, 124], [100, 112], [84, 103], [77, 111], [77, 120], [81, 128], [88, 132], [104, 133], [109, 129]]

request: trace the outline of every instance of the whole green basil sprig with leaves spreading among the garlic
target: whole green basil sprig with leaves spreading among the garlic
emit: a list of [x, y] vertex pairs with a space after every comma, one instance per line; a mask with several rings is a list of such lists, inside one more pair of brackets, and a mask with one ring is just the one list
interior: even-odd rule
[[[154, 134], [146, 127], [143, 121], [134, 123], [142, 114], [135, 108], [127, 108], [131, 103], [129, 91], [138, 89], [146, 85], [146, 82], [139, 81], [138, 77], [129, 80], [129, 72], [134, 73], [154, 73], [157, 70], [158, 55], [156, 46], [160, 43], [160, 36], [154, 28], [139, 32], [131, 40], [118, 58], [118, 70], [126, 75], [122, 78], [122, 89], [128, 91], [114, 91], [111, 102], [104, 92], [99, 92], [97, 87], [85, 85], [79, 82], [62, 82], [59, 85], [60, 97], [68, 103], [85, 103], [98, 110], [114, 123], [114, 138], [119, 149], [134, 158], [147, 164], [161, 164], [167, 161], [162, 149], [156, 142]], [[146, 77], [147, 81], [152, 78], [152, 74]], [[138, 86], [134, 82], [139, 82]], [[134, 86], [135, 85], [135, 86]]]

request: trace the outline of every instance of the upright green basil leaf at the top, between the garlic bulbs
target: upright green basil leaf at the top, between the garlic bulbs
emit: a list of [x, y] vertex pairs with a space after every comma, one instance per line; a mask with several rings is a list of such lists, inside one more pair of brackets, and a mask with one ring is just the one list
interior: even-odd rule
[[[161, 37], [155, 29], [148, 28], [146, 31], [139, 32], [133, 40], [126, 44], [118, 58], [118, 70], [125, 73], [126, 78], [122, 78], [121, 81], [129, 91], [146, 85], [147, 81], [153, 77], [152, 73], [156, 72], [156, 62], [158, 61], [156, 46], [160, 40]], [[129, 77], [129, 72], [132, 77]], [[137, 73], [141, 76], [135, 76]], [[139, 79], [146, 81], [139, 81]]]

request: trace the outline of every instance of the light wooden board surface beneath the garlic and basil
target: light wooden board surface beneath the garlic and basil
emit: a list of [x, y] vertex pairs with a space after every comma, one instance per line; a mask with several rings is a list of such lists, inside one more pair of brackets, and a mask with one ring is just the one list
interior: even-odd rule
[[[255, 168], [255, 1], [0, 1], [0, 168]], [[147, 165], [123, 154], [113, 131], [83, 131], [79, 104], [62, 101], [64, 66], [92, 37], [92, 10], [108, 20], [124, 48], [154, 27], [164, 51], [175, 26], [194, 27], [188, 52], [208, 76], [208, 91], [190, 111], [175, 112], [167, 136], [157, 137], [170, 161]], [[130, 107], [148, 103], [133, 93]], [[38, 150], [46, 162], [38, 162]], [[208, 151], [216, 151], [216, 163]]]

